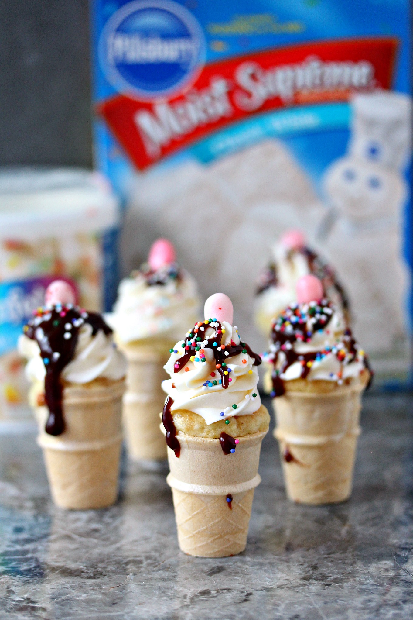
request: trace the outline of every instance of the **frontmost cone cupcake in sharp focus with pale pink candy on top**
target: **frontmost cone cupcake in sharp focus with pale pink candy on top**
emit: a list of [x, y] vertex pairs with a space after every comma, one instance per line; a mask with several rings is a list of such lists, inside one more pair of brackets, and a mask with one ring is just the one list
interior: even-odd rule
[[230, 299], [212, 295], [204, 312], [165, 365], [162, 421], [180, 548], [224, 557], [245, 549], [269, 414], [257, 390], [261, 358], [241, 342]]

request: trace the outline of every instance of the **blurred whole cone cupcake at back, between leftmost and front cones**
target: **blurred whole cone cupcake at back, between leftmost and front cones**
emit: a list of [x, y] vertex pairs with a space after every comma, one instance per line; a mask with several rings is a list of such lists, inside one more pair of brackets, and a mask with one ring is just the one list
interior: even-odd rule
[[194, 279], [178, 268], [172, 243], [158, 239], [148, 262], [121, 281], [118, 301], [105, 317], [128, 359], [123, 424], [132, 459], [167, 457], [159, 432], [159, 412], [165, 400], [163, 366], [176, 340], [196, 320], [198, 309]]

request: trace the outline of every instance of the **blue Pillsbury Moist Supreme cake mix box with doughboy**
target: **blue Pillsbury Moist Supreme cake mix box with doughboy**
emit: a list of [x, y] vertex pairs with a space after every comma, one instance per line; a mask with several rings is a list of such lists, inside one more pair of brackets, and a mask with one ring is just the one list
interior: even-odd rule
[[[123, 260], [176, 244], [245, 339], [290, 229], [333, 267], [378, 382], [410, 372], [407, 0], [94, 0], [97, 164], [126, 201]], [[275, 251], [275, 250], [274, 250]]]

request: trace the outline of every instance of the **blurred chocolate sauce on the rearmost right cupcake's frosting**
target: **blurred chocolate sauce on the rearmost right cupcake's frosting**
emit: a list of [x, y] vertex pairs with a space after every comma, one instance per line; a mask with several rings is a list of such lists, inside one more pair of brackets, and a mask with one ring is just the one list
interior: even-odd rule
[[[337, 280], [336, 273], [334, 273], [333, 268], [331, 268], [325, 260], [313, 252], [313, 250], [309, 247], [290, 250], [287, 253], [287, 260], [292, 260], [293, 254], [296, 252], [300, 252], [300, 254], [303, 254], [306, 257], [308, 262], [308, 270], [323, 283], [324, 294], [331, 296], [331, 289], [334, 289], [336, 291], [337, 298], [340, 300], [342, 308], [344, 311], [348, 312], [350, 308], [349, 298], [347, 297], [346, 291], [344, 291], [341, 283]], [[268, 288], [271, 288], [271, 286], [277, 286], [278, 284], [279, 279], [277, 275], [277, 265], [275, 263], [271, 263], [264, 269], [259, 277], [259, 284], [256, 294], [259, 295]]]

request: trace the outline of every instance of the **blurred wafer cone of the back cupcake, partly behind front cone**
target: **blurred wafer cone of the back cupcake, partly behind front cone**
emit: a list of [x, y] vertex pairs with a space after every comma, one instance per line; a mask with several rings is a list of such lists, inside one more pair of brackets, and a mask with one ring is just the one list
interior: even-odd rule
[[129, 456], [166, 459], [165, 437], [159, 430], [159, 413], [165, 403], [161, 383], [167, 379], [163, 366], [173, 344], [120, 345], [128, 358], [128, 389], [123, 397], [123, 425]]

